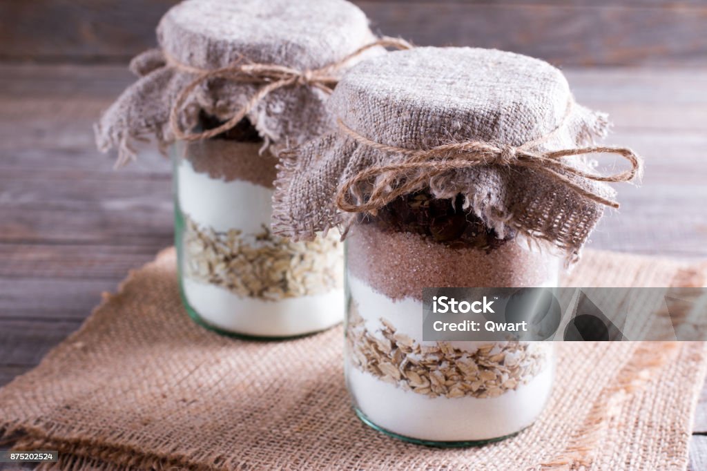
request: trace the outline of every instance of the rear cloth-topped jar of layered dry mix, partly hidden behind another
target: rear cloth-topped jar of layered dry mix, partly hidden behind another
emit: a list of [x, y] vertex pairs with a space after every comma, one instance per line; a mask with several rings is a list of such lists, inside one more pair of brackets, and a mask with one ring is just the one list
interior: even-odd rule
[[154, 137], [174, 164], [180, 288], [189, 315], [219, 332], [290, 337], [344, 317], [337, 236], [294, 242], [270, 229], [284, 146], [331, 129], [325, 103], [344, 69], [385, 53], [344, 0], [189, 0], [135, 57], [139, 76], [96, 126], [100, 149]]

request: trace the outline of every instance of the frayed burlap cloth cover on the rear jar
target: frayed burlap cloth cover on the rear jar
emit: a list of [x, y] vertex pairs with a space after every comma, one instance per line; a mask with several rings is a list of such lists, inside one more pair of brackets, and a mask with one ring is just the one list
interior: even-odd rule
[[[99, 149], [117, 148], [119, 163], [134, 158], [136, 141], [156, 137], [161, 146], [173, 141], [170, 110], [198, 70], [247, 61], [305, 71], [334, 64], [375, 41], [363, 11], [344, 0], [187, 0], [163, 16], [157, 37], [160, 48], [131, 63], [138, 81], [95, 127]], [[380, 52], [382, 48], [370, 50], [358, 60]], [[194, 127], [201, 110], [228, 120], [259, 87], [241, 81], [205, 81], [185, 103], [182, 128]], [[326, 98], [312, 86], [281, 88], [259, 100], [247, 117], [269, 142], [305, 141], [332, 122], [324, 107]]]

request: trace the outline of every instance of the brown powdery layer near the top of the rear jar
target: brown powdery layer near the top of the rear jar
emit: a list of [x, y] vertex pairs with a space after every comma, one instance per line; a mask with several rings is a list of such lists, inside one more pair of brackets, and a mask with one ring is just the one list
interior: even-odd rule
[[207, 139], [187, 144], [185, 158], [194, 171], [225, 180], [244, 180], [273, 188], [277, 159], [268, 151], [259, 153], [262, 143], [228, 139]]

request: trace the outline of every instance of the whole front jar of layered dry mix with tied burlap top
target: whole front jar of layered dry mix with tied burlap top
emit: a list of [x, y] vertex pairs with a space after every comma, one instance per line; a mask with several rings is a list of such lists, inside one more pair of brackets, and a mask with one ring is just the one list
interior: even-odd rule
[[[424, 342], [422, 289], [553, 287], [640, 159], [599, 147], [607, 117], [519, 54], [421, 47], [348, 71], [337, 129], [284, 154], [276, 233], [346, 237], [346, 380], [356, 413], [418, 443], [464, 446], [530, 426], [551, 342]], [[630, 169], [601, 175], [591, 153]]]

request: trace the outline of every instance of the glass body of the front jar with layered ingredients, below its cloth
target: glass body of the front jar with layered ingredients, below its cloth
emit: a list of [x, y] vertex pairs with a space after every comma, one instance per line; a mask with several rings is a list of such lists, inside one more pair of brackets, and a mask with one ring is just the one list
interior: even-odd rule
[[462, 201], [414, 194], [346, 238], [346, 384], [391, 436], [473, 446], [530, 426], [549, 397], [553, 342], [423, 342], [426, 287], [557, 286], [560, 257], [498, 238]]

